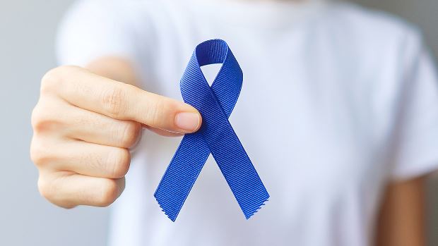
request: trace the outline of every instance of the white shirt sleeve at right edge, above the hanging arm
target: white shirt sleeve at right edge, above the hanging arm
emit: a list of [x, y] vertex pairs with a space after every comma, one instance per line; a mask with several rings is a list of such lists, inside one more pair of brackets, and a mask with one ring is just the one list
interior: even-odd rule
[[420, 35], [406, 45], [403, 95], [396, 124], [392, 179], [406, 180], [438, 169], [438, 78]]

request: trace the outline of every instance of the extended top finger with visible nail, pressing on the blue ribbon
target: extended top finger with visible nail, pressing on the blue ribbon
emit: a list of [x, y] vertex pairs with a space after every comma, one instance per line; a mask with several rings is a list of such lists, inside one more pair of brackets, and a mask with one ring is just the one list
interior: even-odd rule
[[83, 68], [50, 71], [42, 80], [42, 93], [56, 93], [70, 104], [111, 118], [175, 133], [191, 133], [201, 126], [201, 115], [189, 104], [100, 77]]

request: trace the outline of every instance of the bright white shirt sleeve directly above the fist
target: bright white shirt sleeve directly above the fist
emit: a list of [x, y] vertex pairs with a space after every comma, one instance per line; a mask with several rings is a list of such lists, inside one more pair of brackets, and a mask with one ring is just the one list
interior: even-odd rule
[[60, 65], [85, 66], [101, 56], [135, 62], [134, 32], [117, 1], [76, 1], [59, 25], [56, 54]]

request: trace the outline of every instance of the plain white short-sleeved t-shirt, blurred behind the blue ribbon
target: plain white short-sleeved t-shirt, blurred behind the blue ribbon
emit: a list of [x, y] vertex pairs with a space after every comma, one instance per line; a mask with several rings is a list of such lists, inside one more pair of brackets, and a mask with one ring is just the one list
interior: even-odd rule
[[244, 72], [230, 123], [271, 198], [246, 220], [210, 156], [173, 223], [153, 193], [181, 139], [145, 131], [109, 244], [371, 245], [384, 186], [438, 168], [437, 73], [418, 30], [324, 1], [88, 0], [57, 51], [124, 56], [145, 90], [181, 99], [194, 47], [213, 38]]

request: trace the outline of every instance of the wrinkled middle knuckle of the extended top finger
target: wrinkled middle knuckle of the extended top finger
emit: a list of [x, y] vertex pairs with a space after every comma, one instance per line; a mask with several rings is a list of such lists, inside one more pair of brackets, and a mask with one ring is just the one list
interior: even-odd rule
[[122, 87], [116, 86], [103, 92], [103, 108], [110, 116], [121, 116], [127, 107], [126, 99], [127, 97]]

